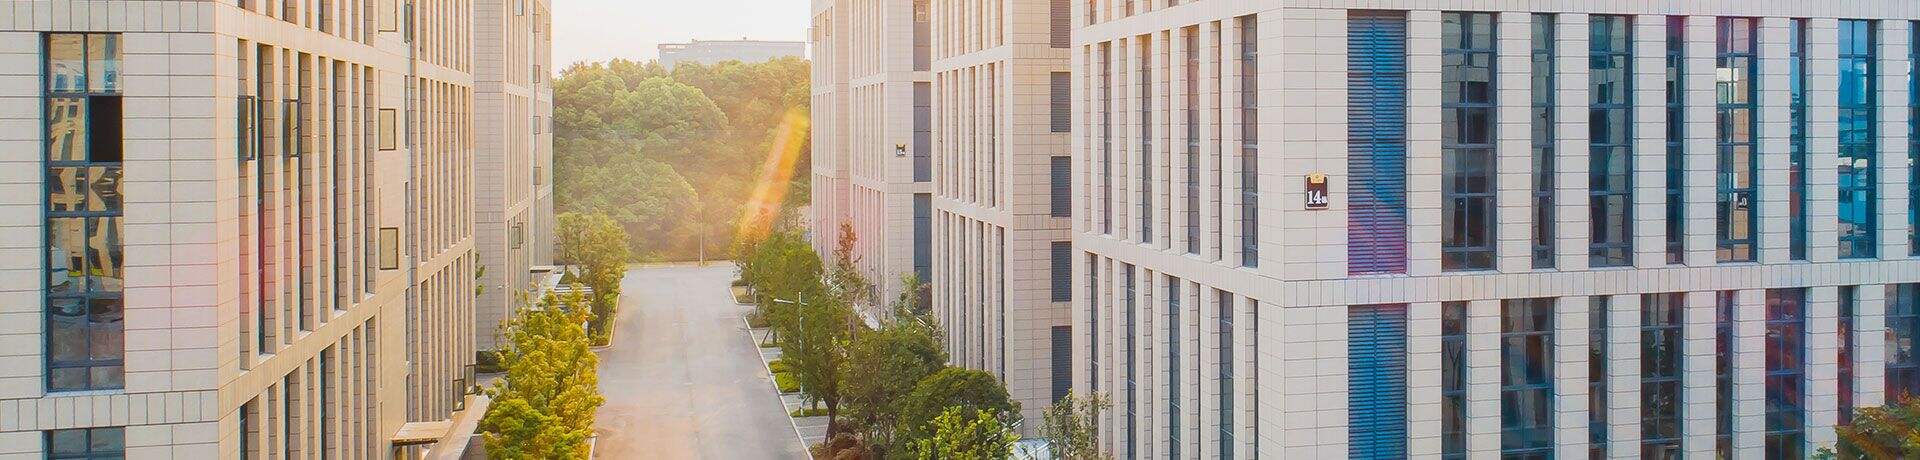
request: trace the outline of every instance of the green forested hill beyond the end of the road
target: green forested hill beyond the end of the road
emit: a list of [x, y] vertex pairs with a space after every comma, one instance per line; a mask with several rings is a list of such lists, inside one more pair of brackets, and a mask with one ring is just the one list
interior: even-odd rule
[[612, 217], [641, 261], [691, 261], [703, 234], [724, 255], [781, 130], [799, 150], [781, 207], [804, 205], [808, 84], [799, 58], [572, 65], [553, 84], [557, 211]]

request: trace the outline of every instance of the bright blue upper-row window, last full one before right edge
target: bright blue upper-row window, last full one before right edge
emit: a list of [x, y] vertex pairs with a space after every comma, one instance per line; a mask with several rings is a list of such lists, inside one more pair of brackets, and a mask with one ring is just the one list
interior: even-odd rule
[[1880, 84], [1874, 23], [1839, 21], [1839, 259], [1876, 253]]

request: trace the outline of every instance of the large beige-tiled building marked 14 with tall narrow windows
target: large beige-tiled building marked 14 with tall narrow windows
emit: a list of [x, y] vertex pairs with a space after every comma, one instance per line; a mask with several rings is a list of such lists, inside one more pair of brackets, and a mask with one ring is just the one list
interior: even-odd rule
[[1920, 389], [1920, 4], [1365, 4], [1073, 2], [1119, 458], [1803, 458]]

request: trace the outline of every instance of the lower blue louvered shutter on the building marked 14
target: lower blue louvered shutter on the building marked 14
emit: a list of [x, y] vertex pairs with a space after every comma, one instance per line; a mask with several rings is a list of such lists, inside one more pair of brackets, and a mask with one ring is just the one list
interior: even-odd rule
[[1407, 305], [1359, 305], [1346, 324], [1348, 458], [1407, 456]]

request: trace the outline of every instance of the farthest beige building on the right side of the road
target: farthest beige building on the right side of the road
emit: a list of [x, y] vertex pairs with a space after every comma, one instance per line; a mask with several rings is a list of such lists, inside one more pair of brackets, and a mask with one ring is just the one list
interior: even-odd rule
[[[841, 224], [881, 305], [900, 276], [931, 278], [933, 84], [925, 0], [812, 4], [814, 251], [831, 264]], [[885, 309], [862, 307], [864, 314]]]

